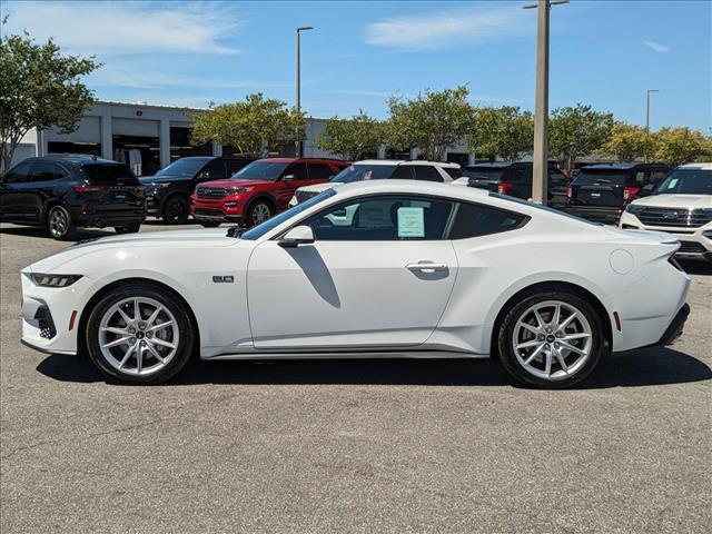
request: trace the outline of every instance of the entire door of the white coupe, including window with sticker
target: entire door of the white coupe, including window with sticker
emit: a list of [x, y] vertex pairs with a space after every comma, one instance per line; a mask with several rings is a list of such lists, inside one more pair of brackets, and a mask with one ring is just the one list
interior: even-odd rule
[[[315, 243], [253, 253], [247, 291], [254, 345], [265, 350], [413, 347], [433, 333], [449, 299], [457, 259], [443, 239], [453, 202], [369, 196], [325, 208], [308, 225]], [[350, 224], [329, 219], [352, 212]]]

